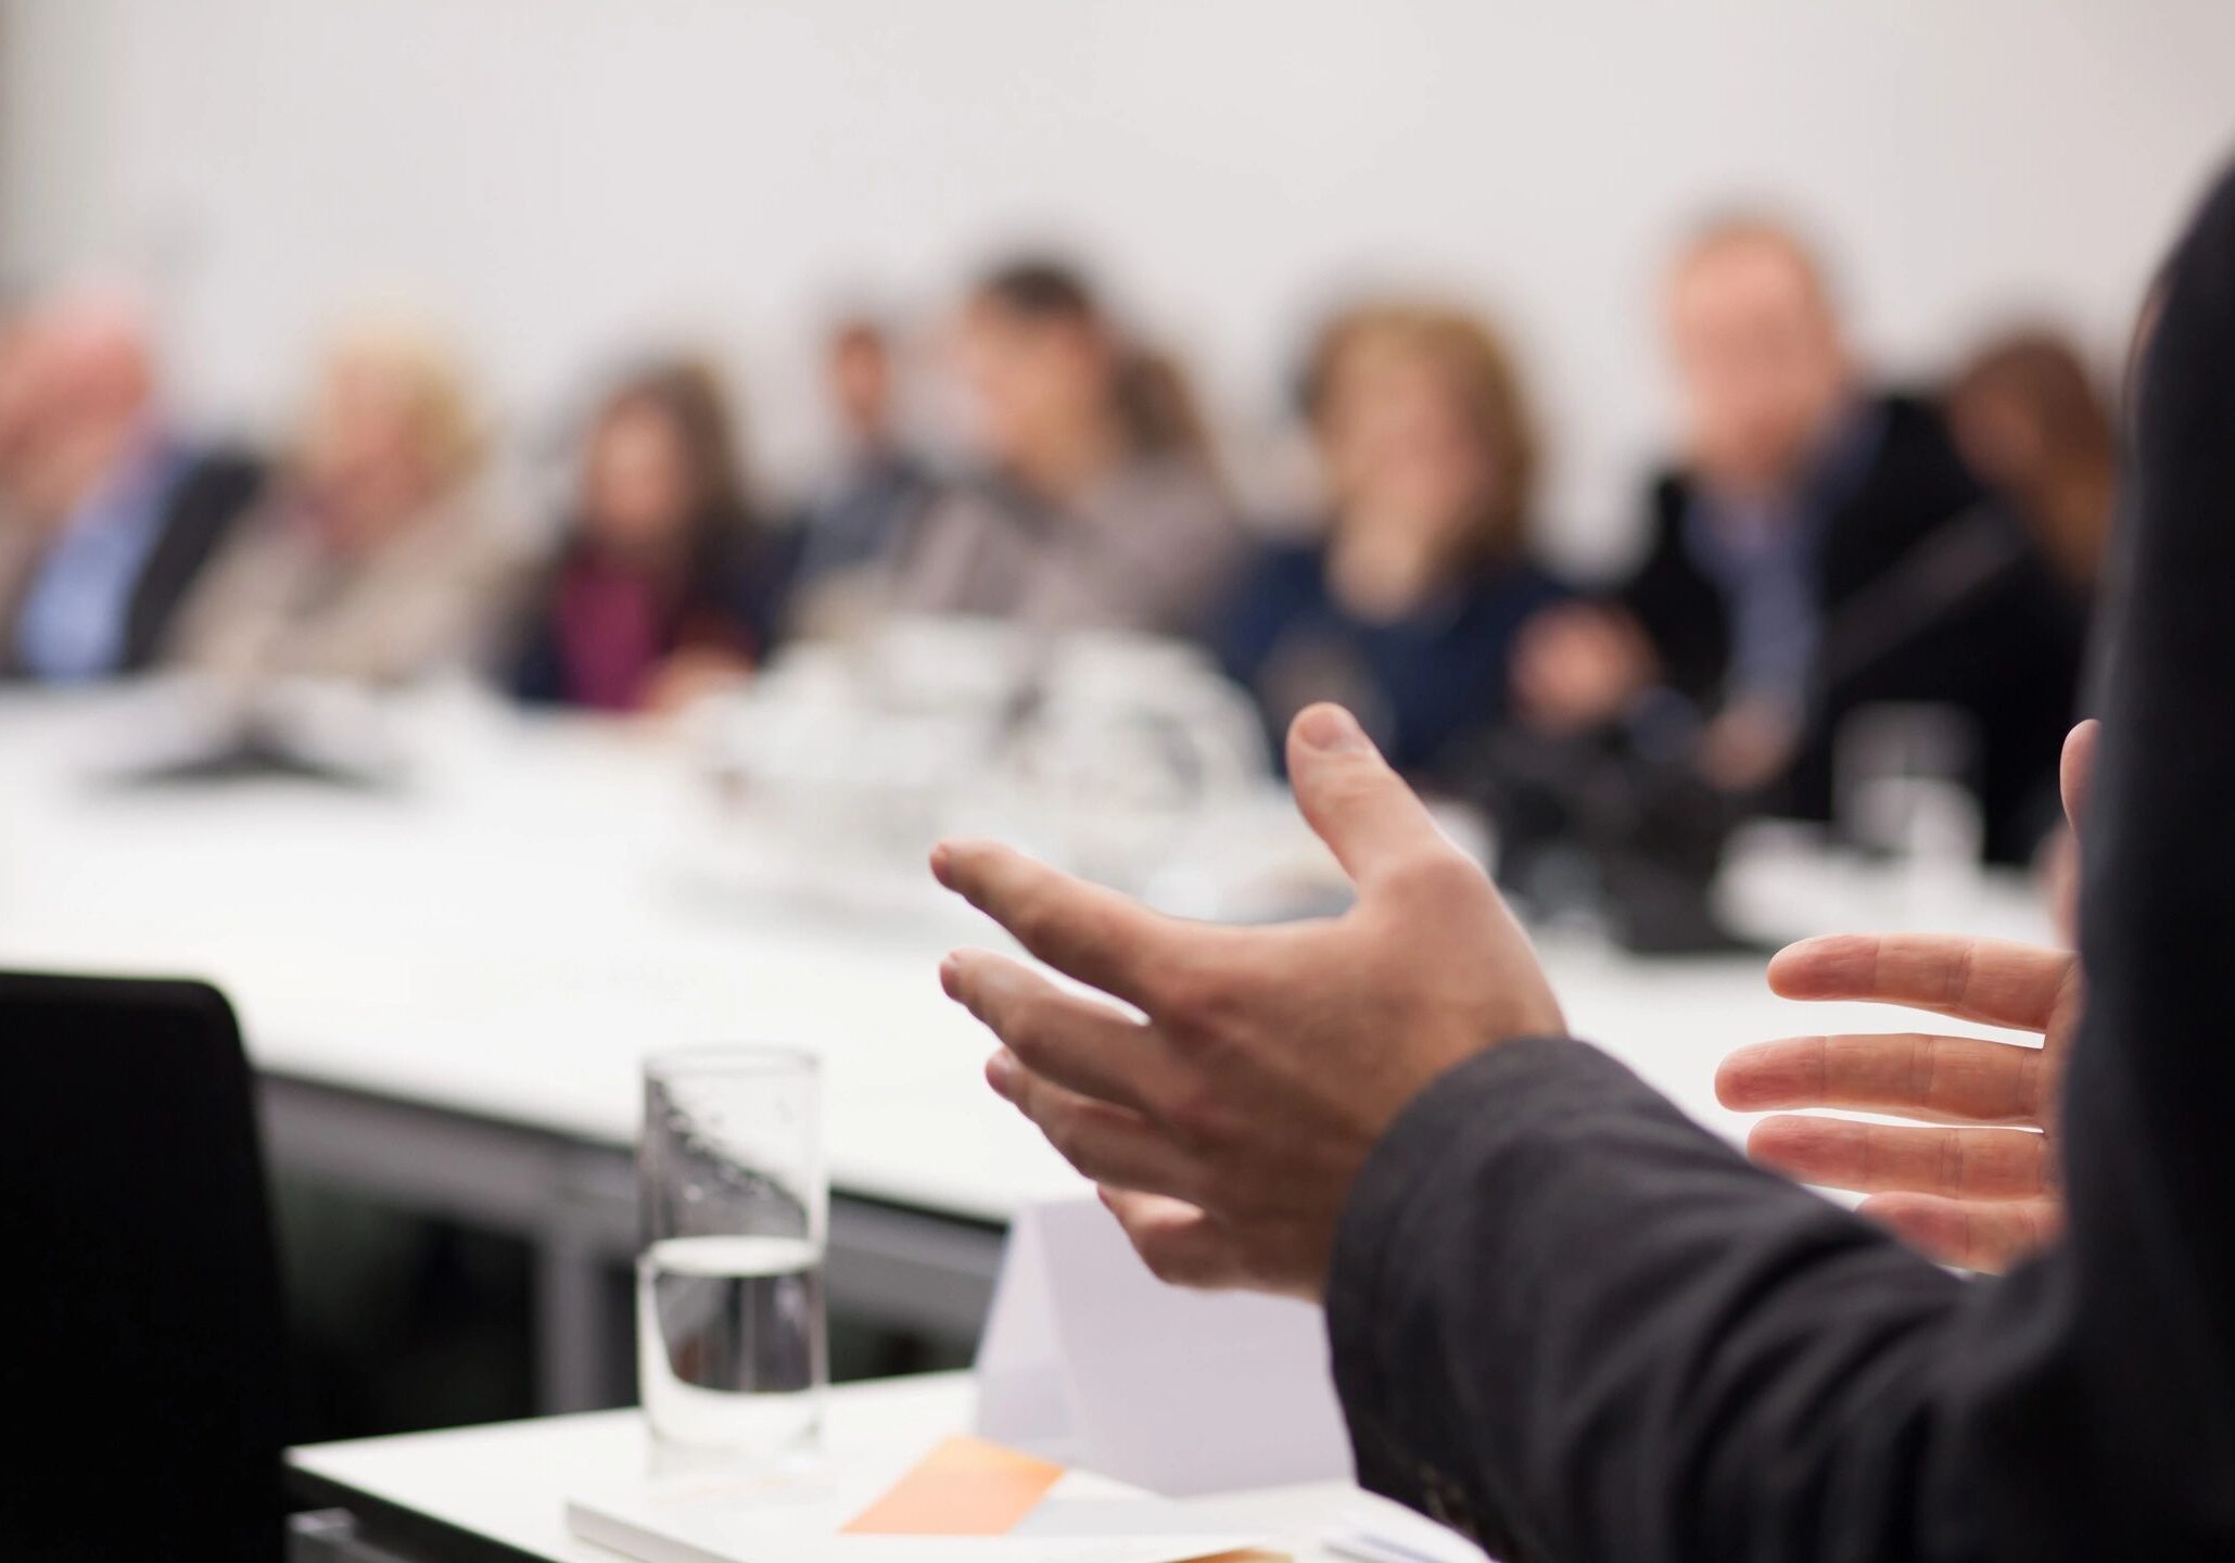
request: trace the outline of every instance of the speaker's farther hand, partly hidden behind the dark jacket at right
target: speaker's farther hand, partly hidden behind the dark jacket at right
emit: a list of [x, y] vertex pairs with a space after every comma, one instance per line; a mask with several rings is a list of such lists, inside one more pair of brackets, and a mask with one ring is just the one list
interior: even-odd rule
[[[2094, 754], [2094, 722], [2065, 740], [2065, 814], [2074, 830]], [[2081, 1017], [2070, 950], [1956, 935], [1806, 939], [1770, 962], [1790, 1000], [1868, 1000], [2012, 1031], [2041, 1046], [1920, 1031], [1788, 1038], [1743, 1046], [1716, 1071], [1739, 1111], [1853, 1109], [1920, 1125], [1777, 1116], [1748, 1152], [1804, 1183], [1866, 1194], [1862, 1210], [1924, 1252], [2003, 1270], [2063, 1228], [2056, 1109]]]

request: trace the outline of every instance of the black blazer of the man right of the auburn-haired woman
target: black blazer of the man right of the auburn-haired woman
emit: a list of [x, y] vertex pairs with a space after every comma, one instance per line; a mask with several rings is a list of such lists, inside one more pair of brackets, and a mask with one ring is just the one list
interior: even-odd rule
[[[1938, 414], [1886, 396], [1868, 416], [1875, 449], [1833, 501], [1817, 552], [1824, 635], [1808, 727], [1768, 803], [1830, 816], [1833, 742], [1857, 704], [1953, 704], [1980, 733], [1974, 785], [1989, 856], [2023, 859], [2056, 816], [2083, 613], [2023, 528], [1987, 501]], [[1685, 474], [1654, 483], [1652, 543], [1620, 601], [1645, 626], [1670, 689], [1712, 711], [1730, 666], [1730, 606], [1685, 541], [1692, 503]]]

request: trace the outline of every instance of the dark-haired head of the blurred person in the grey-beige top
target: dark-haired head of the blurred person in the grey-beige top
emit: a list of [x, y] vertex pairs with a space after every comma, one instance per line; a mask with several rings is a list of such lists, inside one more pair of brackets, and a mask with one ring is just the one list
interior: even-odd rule
[[963, 306], [961, 369], [983, 454], [1026, 479], [1115, 454], [1124, 349], [1086, 280], [1048, 259], [986, 273]]

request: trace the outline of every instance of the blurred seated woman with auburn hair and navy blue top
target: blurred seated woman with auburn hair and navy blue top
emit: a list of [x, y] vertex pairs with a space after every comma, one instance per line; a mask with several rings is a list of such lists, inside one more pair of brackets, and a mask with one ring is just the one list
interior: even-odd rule
[[1278, 751], [1339, 700], [1390, 762], [1435, 776], [1506, 709], [1506, 653], [1560, 593], [1529, 559], [1535, 434], [1497, 335], [1473, 315], [1368, 304], [1305, 382], [1332, 514], [1267, 546], [1214, 631]]

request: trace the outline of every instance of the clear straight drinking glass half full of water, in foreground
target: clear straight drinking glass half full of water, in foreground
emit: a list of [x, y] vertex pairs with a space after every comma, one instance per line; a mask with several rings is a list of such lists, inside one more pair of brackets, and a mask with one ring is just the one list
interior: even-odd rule
[[637, 1377], [653, 1436], [749, 1458], [822, 1413], [820, 1078], [814, 1055], [706, 1046], [644, 1064]]

